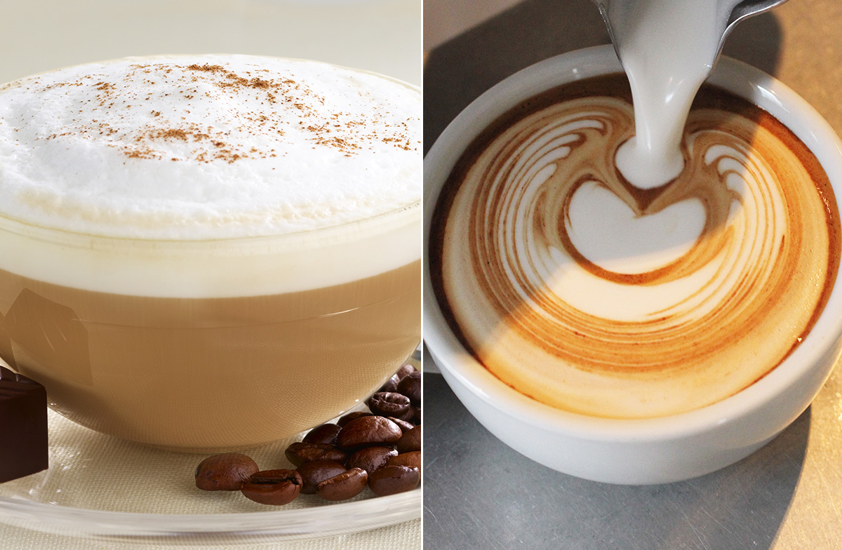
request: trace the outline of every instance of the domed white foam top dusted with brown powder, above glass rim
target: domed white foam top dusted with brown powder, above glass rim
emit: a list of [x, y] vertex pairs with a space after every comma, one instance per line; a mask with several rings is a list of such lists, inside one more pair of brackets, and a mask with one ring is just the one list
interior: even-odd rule
[[420, 198], [421, 98], [253, 56], [129, 58], [0, 92], [0, 215], [126, 238], [334, 227]]

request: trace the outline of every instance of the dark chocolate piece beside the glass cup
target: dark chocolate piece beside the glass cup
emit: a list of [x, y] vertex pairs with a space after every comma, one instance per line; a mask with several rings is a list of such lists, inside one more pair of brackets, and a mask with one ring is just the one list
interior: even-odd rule
[[48, 466], [47, 392], [0, 366], [0, 483]]

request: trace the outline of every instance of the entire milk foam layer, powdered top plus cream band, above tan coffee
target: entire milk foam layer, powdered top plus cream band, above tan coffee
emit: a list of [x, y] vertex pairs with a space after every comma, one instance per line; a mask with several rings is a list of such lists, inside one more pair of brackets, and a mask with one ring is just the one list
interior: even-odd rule
[[395, 270], [421, 256], [420, 115], [418, 89], [390, 78], [269, 57], [128, 58], [7, 84], [0, 269], [184, 298]]

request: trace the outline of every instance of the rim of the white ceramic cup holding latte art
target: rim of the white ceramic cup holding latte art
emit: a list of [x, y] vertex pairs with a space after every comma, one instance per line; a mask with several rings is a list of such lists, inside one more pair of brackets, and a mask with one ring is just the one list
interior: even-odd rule
[[[493, 376], [465, 349], [445, 322], [429, 275], [429, 227], [442, 185], [461, 151], [489, 123], [524, 99], [548, 88], [611, 72], [622, 72], [611, 45], [554, 56], [505, 78], [482, 93], [450, 122], [424, 158], [424, 341], [445, 375], [500, 414], [561, 435], [590, 441], [664, 441], [727, 425], [786, 393], [822, 363], [842, 334], [842, 273], [822, 314], [801, 344], [749, 387], [702, 408], [647, 419], [614, 419], [553, 408], [517, 392]], [[818, 158], [842, 211], [842, 141], [797, 93], [775, 77], [722, 56], [707, 82], [758, 104], [793, 131]], [[837, 251], [839, 253], [839, 251]], [[829, 376], [829, 372], [824, 376]], [[501, 404], [504, 403], [504, 404]]]

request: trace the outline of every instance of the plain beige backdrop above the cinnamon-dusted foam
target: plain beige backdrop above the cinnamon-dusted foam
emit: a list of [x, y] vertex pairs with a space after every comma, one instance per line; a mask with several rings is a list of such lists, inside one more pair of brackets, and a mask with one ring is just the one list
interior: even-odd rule
[[0, 0], [0, 83], [124, 56], [247, 53], [421, 84], [421, 0]]

